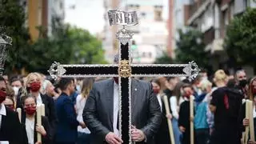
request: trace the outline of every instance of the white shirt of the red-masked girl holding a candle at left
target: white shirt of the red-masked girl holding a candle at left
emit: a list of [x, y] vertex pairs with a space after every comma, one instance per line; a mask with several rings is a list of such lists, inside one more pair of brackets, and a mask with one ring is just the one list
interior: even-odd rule
[[29, 144], [34, 144], [34, 119], [30, 120], [26, 118], [26, 135], [29, 141]]

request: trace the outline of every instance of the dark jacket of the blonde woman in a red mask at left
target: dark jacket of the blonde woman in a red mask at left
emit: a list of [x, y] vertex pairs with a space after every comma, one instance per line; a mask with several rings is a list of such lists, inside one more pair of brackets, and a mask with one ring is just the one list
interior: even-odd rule
[[[50, 122], [50, 130], [51, 134], [54, 134], [54, 130], [56, 129], [56, 124], [58, 122], [57, 116], [56, 116], [56, 111], [55, 111], [55, 106], [54, 106], [54, 98], [51, 98], [50, 96], [46, 94], [41, 94], [42, 98], [42, 103], [45, 104], [45, 109], [46, 109], [46, 117], [48, 118], [48, 121]], [[22, 108], [22, 98], [20, 95], [17, 97], [17, 107]]]

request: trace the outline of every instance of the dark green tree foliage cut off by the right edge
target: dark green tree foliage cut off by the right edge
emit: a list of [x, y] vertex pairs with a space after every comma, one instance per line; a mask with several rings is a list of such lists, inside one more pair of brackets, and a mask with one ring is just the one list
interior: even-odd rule
[[230, 22], [224, 47], [235, 65], [256, 67], [256, 9], [247, 9]]

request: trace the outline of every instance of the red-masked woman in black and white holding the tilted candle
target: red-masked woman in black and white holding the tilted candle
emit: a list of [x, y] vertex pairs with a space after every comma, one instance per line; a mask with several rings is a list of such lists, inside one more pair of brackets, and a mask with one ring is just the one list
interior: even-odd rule
[[155, 143], [170, 144], [170, 134], [167, 125], [167, 118], [171, 119], [172, 115], [166, 115], [166, 107], [162, 100], [162, 96], [164, 94], [161, 91], [161, 83], [159, 82], [159, 79], [153, 79], [151, 83], [153, 86], [154, 94], [158, 98], [158, 102], [162, 111], [162, 122], [158, 133], [155, 136]]

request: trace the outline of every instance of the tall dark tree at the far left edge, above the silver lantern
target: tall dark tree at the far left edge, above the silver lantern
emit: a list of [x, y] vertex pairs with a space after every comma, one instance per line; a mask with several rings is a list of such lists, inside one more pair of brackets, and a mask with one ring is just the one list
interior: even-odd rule
[[0, 26], [6, 26], [6, 34], [13, 39], [6, 60], [6, 72], [21, 70], [29, 63], [30, 34], [24, 26], [25, 13], [17, 0], [0, 0]]

